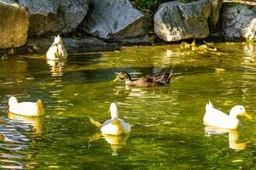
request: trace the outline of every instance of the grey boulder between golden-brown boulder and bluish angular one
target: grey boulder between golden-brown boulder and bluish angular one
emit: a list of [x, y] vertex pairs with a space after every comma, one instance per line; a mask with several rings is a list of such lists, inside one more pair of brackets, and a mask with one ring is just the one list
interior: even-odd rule
[[88, 5], [85, 0], [20, 0], [28, 10], [29, 34], [73, 31], [84, 20]]

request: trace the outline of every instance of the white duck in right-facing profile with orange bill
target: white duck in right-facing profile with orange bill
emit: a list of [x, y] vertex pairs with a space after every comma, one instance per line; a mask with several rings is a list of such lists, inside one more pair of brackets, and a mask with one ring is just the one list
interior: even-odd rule
[[206, 113], [203, 121], [207, 126], [236, 129], [240, 125], [240, 121], [237, 119], [237, 116], [245, 116], [248, 119], [252, 119], [252, 116], [247, 114], [242, 105], [234, 106], [230, 110], [230, 115], [227, 115], [224, 112], [215, 109], [212, 103], [209, 102], [206, 105]]

